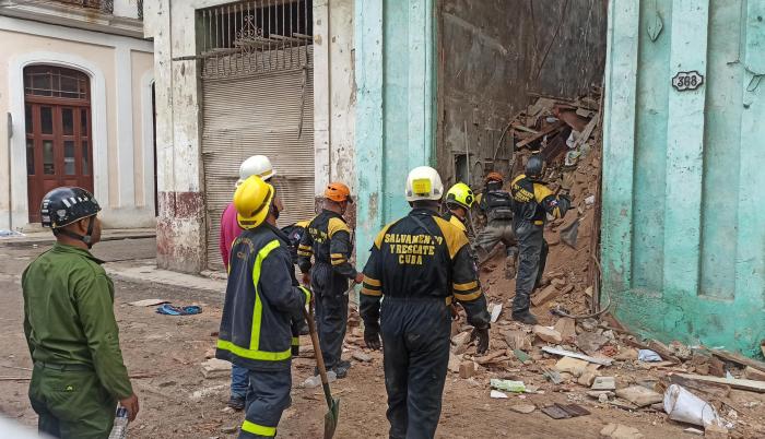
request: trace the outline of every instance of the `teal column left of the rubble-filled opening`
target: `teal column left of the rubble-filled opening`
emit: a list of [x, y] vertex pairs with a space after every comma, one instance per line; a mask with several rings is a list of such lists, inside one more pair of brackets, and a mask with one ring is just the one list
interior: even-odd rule
[[409, 169], [435, 162], [433, 0], [356, 0], [356, 261], [409, 210]]

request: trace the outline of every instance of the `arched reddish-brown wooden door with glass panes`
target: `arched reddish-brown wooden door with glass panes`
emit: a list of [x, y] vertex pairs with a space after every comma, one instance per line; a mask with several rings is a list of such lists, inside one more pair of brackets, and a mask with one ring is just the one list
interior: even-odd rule
[[93, 191], [89, 79], [49, 66], [24, 70], [30, 222], [39, 222], [43, 197], [61, 186]]

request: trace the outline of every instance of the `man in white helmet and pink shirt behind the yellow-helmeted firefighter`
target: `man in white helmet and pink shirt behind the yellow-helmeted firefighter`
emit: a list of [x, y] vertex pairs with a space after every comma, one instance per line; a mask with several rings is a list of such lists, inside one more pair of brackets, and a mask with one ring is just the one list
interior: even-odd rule
[[[263, 181], [270, 181], [276, 171], [271, 165], [271, 161], [264, 155], [254, 155], [239, 165], [239, 179], [236, 181], [236, 187], [239, 187], [247, 178], [250, 176], [258, 176], [263, 179]], [[236, 220], [236, 207], [234, 203], [229, 203], [223, 215], [221, 216], [221, 234], [219, 238], [219, 248], [221, 250], [221, 259], [223, 259], [223, 265], [226, 271], [228, 271], [228, 260], [231, 256], [231, 246], [242, 234], [242, 227]], [[297, 355], [299, 352], [299, 333], [302, 325], [305, 323], [303, 317], [299, 317], [295, 322], [293, 322], [293, 355]], [[245, 408], [245, 401], [247, 398], [247, 389], [249, 384], [247, 369], [239, 366], [233, 365], [231, 369], [231, 396], [228, 399], [227, 405], [236, 411]]]

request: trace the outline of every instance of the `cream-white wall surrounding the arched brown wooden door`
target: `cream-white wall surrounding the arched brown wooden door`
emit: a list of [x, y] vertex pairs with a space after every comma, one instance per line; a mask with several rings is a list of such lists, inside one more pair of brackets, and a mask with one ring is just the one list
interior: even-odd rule
[[0, 228], [31, 226], [23, 69], [37, 63], [78, 69], [91, 79], [94, 194], [104, 209], [105, 226], [153, 226], [152, 139], [134, 135], [136, 129], [142, 132], [142, 124], [151, 123], [136, 120], [134, 110], [151, 114], [151, 100], [133, 98], [145, 92], [136, 90], [133, 79], [151, 74], [152, 44], [8, 16], [0, 16], [0, 115], [4, 119], [10, 114], [13, 120], [12, 135], [5, 120], [0, 123]]

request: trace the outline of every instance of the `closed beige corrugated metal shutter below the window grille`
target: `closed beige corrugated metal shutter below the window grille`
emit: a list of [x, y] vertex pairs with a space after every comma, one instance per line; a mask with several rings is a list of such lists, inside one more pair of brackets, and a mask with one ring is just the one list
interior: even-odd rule
[[202, 162], [208, 265], [223, 266], [220, 221], [234, 195], [239, 164], [262, 154], [278, 176], [280, 226], [314, 215], [314, 74], [311, 67], [235, 79], [204, 79]]

